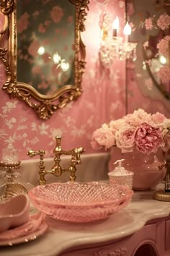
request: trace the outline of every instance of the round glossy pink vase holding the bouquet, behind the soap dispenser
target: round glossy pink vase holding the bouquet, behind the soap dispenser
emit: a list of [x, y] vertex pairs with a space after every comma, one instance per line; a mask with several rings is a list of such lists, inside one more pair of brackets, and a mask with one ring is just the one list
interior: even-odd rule
[[157, 153], [150, 155], [140, 153], [138, 150], [132, 153], [121, 153], [120, 148], [112, 148], [109, 160], [109, 171], [115, 166], [117, 159], [125, 159], [122, 166], [128, 171], [133, 171], [133, 189], [147, 190], [155, 187], [163, 181], [166, 176], [166, 168], [159, 168], [165, 163], [166, 155], [159, 149]]

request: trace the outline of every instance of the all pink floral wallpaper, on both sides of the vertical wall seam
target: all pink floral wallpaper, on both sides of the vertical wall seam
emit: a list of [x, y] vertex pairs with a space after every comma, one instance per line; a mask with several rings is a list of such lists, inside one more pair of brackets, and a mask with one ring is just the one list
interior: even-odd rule
[[[139, 28], [133, 17], [136, 9], [137, 17], [141, 17], [142, 11], [138, 10], [137, 2], [142, 4], [144, 1], [127, 2], [130, 25], [133, 33], [136, 33]], [[86, 70], [82, 81], [83, 93], [77, 101], [57, 111], [51, 119], [42, 121], [22, 101], [17, 98], [11, 100], [0, 90], [0, 149], [12, 143], [19, 150], [21, 160], [28, 159], [27, 150], [30, 148], [45, 150], [46, 156], [53, 156], [55, 136], [62, 135], [63, 149], [82, 146], [86, 153], [96, 153], [97, 150], [91, 148], [91, 136], [104, 122], [118, 119], [136, 108], [160, 111], [170, 116], [169, 100], [161, 95], [148, 74], [143, 72], [140, 50], [135, 63], [115, 60], [109, 69], [102, 66], [99, 61], [99, 20], [102, 12], [107, 11], [112, 15], [112, 20], [115, 20], [116, 15], [119, 17], [120, 30], [125, 25], [125, 0], [90, 1], [86, 31], [82, 33], [86, 45]], [[149, 27], [149, 22], [147, 24]], [[141, 30], [140, 27], [140, 33]], [[138, 36], [138, 47], [145, 41], [143, 34]], [[4, 66], [0, 63], [0, 86], [5, 80]]]

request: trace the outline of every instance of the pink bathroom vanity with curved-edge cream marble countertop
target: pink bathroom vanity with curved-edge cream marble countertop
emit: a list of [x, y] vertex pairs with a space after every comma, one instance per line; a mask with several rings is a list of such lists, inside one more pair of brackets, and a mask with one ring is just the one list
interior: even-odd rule
[[103, 221], [66, 223], [47, 218], [48, 231], [34, 241], [0, 247], [1, 256], [169, 256], [170, 202], [154, 189], [135, 192], [130, 204]]

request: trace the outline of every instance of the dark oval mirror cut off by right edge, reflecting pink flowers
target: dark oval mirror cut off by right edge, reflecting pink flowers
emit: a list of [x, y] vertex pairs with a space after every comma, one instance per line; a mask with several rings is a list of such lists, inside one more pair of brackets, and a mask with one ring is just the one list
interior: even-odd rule
[[145, 21], [148, 40], [143, 43], [143, 68], [148, 70], [154, 85], [170, 99], [170, 29], [168, 1], [156, 1], [154, 15]]

